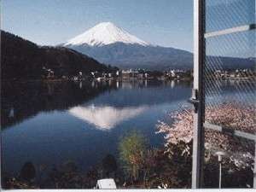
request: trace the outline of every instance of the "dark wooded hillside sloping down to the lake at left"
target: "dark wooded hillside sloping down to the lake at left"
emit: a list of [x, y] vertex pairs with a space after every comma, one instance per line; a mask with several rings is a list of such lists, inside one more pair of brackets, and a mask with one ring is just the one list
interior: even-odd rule
[[38, 46], [9, 32], [1, 32], [2, 80], [42, 79], [43, 68], [51, 69], [55, 78], [108, 71], [110, 67], [73, 49]]

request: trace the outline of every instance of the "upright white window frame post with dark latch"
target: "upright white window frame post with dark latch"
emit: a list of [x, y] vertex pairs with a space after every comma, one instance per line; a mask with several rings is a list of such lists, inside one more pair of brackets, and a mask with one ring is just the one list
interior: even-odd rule
[[204, 63], [204, 0], [194, 0], [194, 90], [198, 104], [194, 113], [192, 189], [202, 187], [204, 161], [204, 91], [203, 91], [203, 63]]

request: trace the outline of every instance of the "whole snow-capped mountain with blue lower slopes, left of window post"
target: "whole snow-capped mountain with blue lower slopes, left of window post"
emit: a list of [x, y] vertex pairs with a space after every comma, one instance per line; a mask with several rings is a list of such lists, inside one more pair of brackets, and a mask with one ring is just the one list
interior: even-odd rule
[[193, 55], [182, 49], [149, 44], [111, 22], [100, 23], [61, 44], [120, 68], [192, 68]]

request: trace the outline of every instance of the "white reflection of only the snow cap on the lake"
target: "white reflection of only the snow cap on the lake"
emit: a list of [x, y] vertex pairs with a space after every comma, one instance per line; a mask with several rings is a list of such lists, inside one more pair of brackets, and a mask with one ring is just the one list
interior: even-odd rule
[[138, 108], [113, 107], [75, 107], [68, 110], [73, 116], [96, 126], [96, 129], [108, 131], [126, 119], [131, 119], [147, 109], [146, 106]]

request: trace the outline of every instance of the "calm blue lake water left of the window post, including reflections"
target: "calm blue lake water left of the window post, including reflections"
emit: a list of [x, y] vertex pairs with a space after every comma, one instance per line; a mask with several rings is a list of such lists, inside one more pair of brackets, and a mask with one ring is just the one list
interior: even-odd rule
[[3, 84], [2, 167], [17, 173], [26, 161], [36, 167], [73, 160], [81, 170], [118, 158], [118, 143], [139, 131], [152, 147], [159, 120], [189, 105], [189, 82], [135, 81]]

